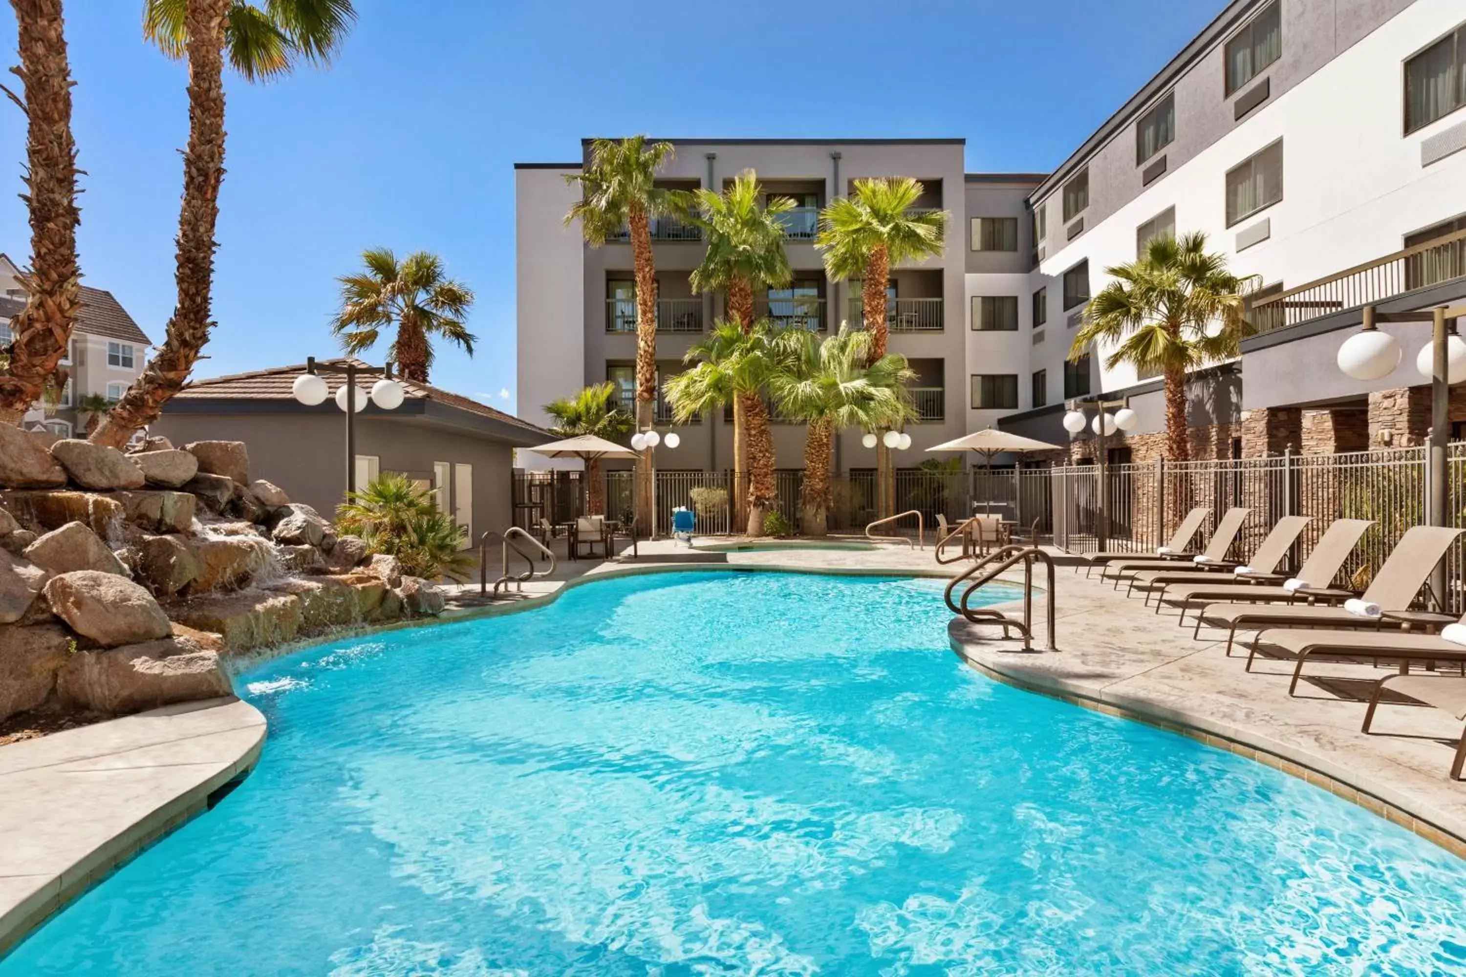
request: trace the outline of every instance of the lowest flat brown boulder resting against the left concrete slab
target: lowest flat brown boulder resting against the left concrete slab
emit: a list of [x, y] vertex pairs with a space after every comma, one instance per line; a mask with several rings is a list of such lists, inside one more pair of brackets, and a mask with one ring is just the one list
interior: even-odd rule
[[218, 650], [180, 634], [106, 652], [78, 652], [60, 669], [56, 691], [66, 705], [125, 715], [217, 699], [233, 690]]

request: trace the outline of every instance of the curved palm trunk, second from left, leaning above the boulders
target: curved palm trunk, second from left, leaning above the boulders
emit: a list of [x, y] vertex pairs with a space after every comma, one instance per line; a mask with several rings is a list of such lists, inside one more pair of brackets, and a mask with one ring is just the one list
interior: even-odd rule
[[183, 152], [183, 205], [179, 209], [177, 305], [163, 347], [142, 375], [91, 434], [91, 441], [120, 448], [135, 431], [158, 419], [188, 382], [208, 333], [214, 284], [214, 226], [218, 185], [224, 179], [224, 15], [230, 0], [189, 0], [188, 149]]

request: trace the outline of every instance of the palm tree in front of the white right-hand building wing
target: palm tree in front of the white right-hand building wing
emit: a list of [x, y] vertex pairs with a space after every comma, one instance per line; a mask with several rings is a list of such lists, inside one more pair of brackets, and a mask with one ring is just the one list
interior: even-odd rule
[[1223, 255], [1207, 252], [1201, 231], [1157, 237], [1139, 259], [1105, 268], [1114, 278], [1085, 306], [1085, 324], [1069, 359], [1078, 362], [1100, 343], [1119, 343], [1108, 369], [1130, 363], [1165, 378], [1165, 451], [1190, 456], [1186, 431], [1186, 371], [1240, 354], [1246, 296], [1258, 278], [1227, 271]]

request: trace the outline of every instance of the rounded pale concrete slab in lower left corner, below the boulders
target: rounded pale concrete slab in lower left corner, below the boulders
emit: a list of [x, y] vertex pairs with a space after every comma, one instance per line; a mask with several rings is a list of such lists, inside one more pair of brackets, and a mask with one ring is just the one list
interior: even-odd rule
[[265, 718], [233, 696], [0, 747], [0, 958], [258, 762]]

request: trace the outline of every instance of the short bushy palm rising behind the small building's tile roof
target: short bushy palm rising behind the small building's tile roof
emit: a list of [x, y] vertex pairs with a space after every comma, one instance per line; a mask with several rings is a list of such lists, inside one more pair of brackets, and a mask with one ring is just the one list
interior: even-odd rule
[[415, 384], [428, 382], [432, 366], [434, 335], [474, 354], [478, 338], [463, 325], [474, 291], [453, 281], [443, 271], [443, 259], [415, 250], [403, 261], [390, 248], [362, 252], [365, 271], [342, 275], [342, 311], [331, 321], [331, 334], [352, 356], [365, 353], [381, 338], [384, 328], [396, 327], [387, 359]]

